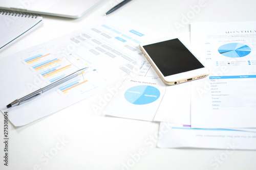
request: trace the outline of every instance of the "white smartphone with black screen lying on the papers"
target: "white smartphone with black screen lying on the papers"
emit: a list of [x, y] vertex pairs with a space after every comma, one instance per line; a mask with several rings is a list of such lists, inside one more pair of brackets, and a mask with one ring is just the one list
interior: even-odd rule
[[209, 75], [209, 70], [178, 38], [162, 38], [140, 44], [141, 51], [167, 85]]

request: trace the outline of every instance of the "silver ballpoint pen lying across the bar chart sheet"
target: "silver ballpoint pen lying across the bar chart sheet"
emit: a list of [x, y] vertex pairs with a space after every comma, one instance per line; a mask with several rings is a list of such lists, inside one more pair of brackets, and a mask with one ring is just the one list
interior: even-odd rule
[[15, 101], [10, 103], [6, 107], [10, 108], [10, 107], [14, 107], [14, 106], [21, 105], [23, 103], [29, 102], [29, 101], [37, 98], [38, 96], [41, 96], [42, 93], [44, 93], [44, 92], [46, 92], [46, 91], [48, 91], [48, 90], [50, 90], [50, 89], [52, 89], [52, 88], [62, 84], [62, 83], [66, 82], [66, 81], [68, 81], [70, 79], [73, 79], [74, 77], [78, 76], [79, 74], [81, 74], [81, 72], [83, 72], [83, 71], [85, 71], [87, 69], [88, 69], [88, 67], [76, 70], [76, 71], [72, 72], [68, 76], [65, 76], [65, 77], [63, 77], [63, 78], [61, 78], [61, 79], [59, 79], [59, 80], [57, 80], [57, 81], [55, 81], [55, 82], [53, 82], [51, 84], [48, 84], [48, 85], [46, 85], [46, 86], [44, 86], [42, 88], [39, 88], [39, 89], [37, 89], [37, 90], [35, 90], [35, 91], [33, 91], [33, 92], [23, 96], [22, 98], [16, 99]]

